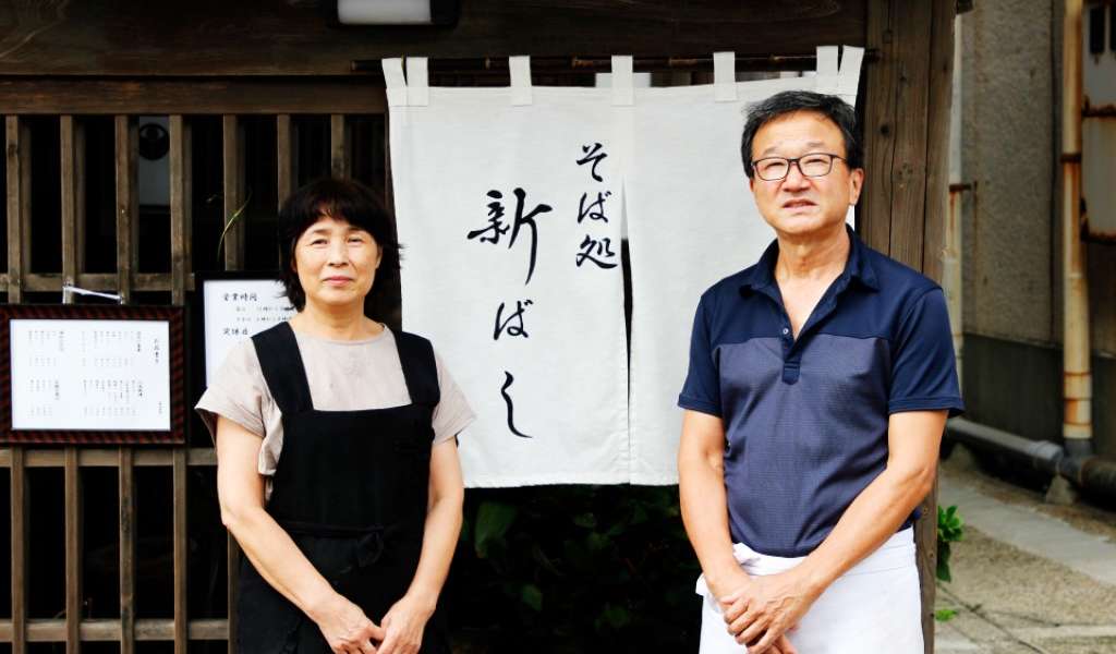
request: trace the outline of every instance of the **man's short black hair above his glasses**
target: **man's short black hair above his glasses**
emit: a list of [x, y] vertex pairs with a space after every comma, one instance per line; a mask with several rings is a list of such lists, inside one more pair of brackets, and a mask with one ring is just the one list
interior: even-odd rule
[[[773, 96], [748, 105], [748, 121], [744, 133], [740, 137], [740, 157], [744, 162], [744, 173], [751, 177], [752, 141], [760, 127], [771, 121], [798, 112], [814, 112], [829, 118], [845, 140], [845, 162], [849, 169], [864, 166], [864, 147], [860, 145], [856, 124], [856, 109], [835, 95], [825, 95], [810, 90], [785, 90]], [[834, 153], [837, 154], [837, 153]]]

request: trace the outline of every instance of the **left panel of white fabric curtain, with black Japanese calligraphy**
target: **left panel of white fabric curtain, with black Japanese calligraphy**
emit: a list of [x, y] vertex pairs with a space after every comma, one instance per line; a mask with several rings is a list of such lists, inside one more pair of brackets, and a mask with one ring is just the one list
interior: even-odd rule
[[626, 482], [609, 103], [520, 70], [514, 87], [435, 87], [417, 105], [408, 77], [408, 104], [391, 106], [403, 327], [433, 340], [477, 412], [466, 484]]

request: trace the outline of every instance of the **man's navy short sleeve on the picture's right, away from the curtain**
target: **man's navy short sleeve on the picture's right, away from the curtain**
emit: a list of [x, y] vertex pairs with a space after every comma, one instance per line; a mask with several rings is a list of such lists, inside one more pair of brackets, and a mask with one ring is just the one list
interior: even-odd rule
[[892, 386], [887, 412], [964, 411], [958, 385], [953, 336], [940, 288], [923, 294], [899, 323], [892, 349]]

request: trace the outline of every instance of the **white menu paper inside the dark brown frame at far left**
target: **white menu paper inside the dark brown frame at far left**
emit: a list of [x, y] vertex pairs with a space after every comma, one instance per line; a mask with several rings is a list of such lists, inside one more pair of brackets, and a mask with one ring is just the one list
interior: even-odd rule
[[12, 319], [13, 430], [170, 431], [161, 320]]

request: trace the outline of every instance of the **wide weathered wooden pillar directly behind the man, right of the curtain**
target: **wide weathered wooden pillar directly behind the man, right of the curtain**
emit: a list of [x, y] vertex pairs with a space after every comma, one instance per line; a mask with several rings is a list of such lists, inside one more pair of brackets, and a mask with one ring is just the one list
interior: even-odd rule
[[[866, 41], [879, 51], [865, 84], [866, 242], [933, 279], [942, 273], [949, 193], [947, 154], [953, 76], [951, 0], [872, 0]], [[915, 525], [925, 652], [934, 651], [937, 487]]]

